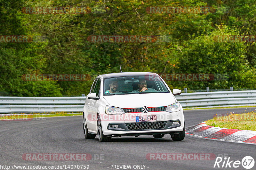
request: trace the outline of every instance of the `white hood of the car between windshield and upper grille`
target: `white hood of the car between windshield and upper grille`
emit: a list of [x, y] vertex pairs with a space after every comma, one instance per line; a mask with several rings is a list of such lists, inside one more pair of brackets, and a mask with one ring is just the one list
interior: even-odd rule
[[163, 107], [177, 102], [172, 93], [141, 93], [103, 97], [110, 106], [119, 108]]

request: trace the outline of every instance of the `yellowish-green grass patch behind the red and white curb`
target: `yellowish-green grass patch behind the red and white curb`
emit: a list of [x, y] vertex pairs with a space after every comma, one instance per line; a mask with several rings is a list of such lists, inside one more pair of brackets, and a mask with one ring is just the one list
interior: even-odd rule
[[221, 128], [256, 131], [256, 112], [216, 115], [205, 123]]

